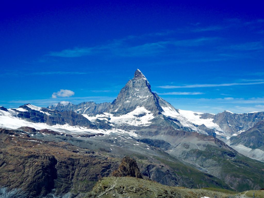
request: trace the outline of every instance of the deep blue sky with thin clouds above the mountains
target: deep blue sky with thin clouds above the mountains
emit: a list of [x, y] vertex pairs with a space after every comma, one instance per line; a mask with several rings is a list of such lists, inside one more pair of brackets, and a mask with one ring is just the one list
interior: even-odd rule
[[264, 111], [263, 3], [11, 3], [0, 106], [111, 102], [138, 68], [178, 109]]

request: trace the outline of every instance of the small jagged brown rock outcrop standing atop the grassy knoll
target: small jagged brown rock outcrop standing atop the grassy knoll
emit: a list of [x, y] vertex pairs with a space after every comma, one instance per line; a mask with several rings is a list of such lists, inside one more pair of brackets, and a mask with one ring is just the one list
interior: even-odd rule
[[112, 173], [115, 177], [136, 177], [136, 178], [143, 178], [136, 161], [128, 156], [122, 159], [122, 162], [117, 170]]

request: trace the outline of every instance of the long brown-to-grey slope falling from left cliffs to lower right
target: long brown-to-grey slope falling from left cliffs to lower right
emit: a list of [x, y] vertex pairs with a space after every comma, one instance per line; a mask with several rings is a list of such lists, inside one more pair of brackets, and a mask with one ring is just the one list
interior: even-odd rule
[[[60, 197], [66, 194], [76, 196], [91, 190], [98, 179], [111, 175], [114, 170], [130, 170], [128, 175], [143, 176], [172, 186], [230, 189], [218, 178], [173, 159], [151, 145], [145, 146], [151, 148], [150, 153], [119, 147], [120, 153], [137, 159], [142, 172], [139, 172], [134, 160], [126, 158], [121, 162], [121, 167], [125, 169], [118, 169], [123, 154], [115, 151], [111, 146], [114, 143], [107, 142], [109, 137], [97, 137], [100, 141], [103, 138], [108, 147], [98, 145], [94, 136], [91, 139], [93, 142], [87, 140], [87, 137], [74, 138], [66, 134], [52, 134], [50, 131], [38, 133], [32, 128], [0, 129], [0, 191], [2, 189], [5, 195], [10, 195], [7, 197]], [[53, 142], [45, 139], [52, 139]], [[149, 154], [152, 157], [149, 158]], [[169, 166], [155, 159], [157, 157], [171, 158], [176, 163]]]

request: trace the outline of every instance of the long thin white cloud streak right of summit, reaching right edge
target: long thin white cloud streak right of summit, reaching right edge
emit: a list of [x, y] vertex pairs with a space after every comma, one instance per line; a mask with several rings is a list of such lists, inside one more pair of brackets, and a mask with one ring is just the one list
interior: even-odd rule
[[225, 87], [225, 86], [236, 86], [236, 85], [251, 85], [251, 84], [264, 84], [264, 82], [252, 82], [252, 83], [223, 83], [223, 84], [190, 84], [190, 85], [165, 85], [158, 86], [163, 89], [174, 89], [174, 88], [197, 88], [197, 87]]

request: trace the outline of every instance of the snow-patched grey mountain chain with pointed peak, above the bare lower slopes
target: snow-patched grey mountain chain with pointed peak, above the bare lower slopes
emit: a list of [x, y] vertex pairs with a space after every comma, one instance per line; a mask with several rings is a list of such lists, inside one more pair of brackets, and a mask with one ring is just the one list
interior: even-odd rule
[[75, 127], [80, 132], [87, 129], [104, 132], [117, 128], [147, 133], [152, 131], [153, 134], [157, 130], [162, 133], [170, 128], [196, 131], [223, 140], [248, 130], [264, 119], [264, 112], [234, 114], [224, 111], [214, 115], [176, 109], [152, 92], [150, 83], [139, 69], [112, 103], [83, 102], [78, 105], [68, 103], [65, 106], [58, 103], [47, 108], [26, 104], [17, 109], [1, 107], [0, 115], [1, 124], [9, 128], [14, 125], [10, 123], [16, 123], [15, 127], [27, 124], [37, 128], [39, 124], [46, 124], [46, 128], [53, 130], [68, 128], [71, 131]]

